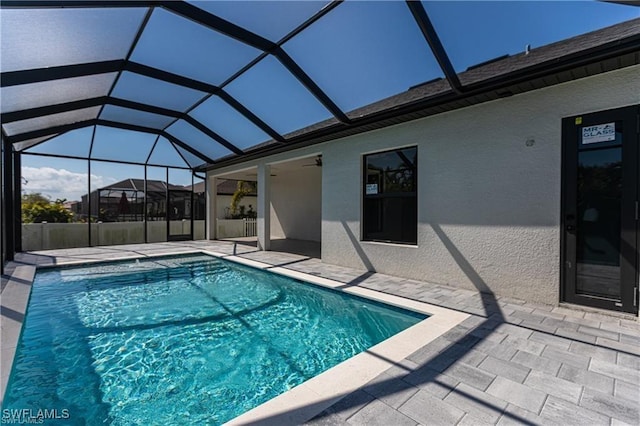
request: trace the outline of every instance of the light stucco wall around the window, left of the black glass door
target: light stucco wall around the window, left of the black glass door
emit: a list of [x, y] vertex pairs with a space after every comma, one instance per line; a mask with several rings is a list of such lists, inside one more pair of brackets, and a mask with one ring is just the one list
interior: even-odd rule
[[[640, 66], [629, 67], [235, 168], [322, 153], [323, 262], [555, 304], [562, 118], [639, 94]], [[412, 145], [418, 244], [360, 241], [362, 155]]]

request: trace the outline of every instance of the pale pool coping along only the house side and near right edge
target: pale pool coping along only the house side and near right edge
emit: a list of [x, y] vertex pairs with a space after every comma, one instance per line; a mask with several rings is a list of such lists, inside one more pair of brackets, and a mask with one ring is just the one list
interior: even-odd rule
[[382, 293], [279, 266], [221, 253], [203, 253], [257, 267], [310, 284], [331, 288], [387, 305], [429, 315], [404, 331], [339, 363], [293, 389], [225, 423], [227, 425], [299, 425], [311, 420], [351, 392], [365, 386], [390, 368], [412, 368], [401, 361], [451, 330], [471, 315], [417, 300]]

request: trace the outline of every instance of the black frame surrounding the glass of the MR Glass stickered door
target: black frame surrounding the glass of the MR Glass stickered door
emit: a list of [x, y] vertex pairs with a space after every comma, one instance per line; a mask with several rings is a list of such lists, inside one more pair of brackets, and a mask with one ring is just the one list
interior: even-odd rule
[[[585, 125], [611, 121], [631, 123], [623, 127], [623, 182], [635, 182], [623, 187], [620, 224], [620, 301], [580, 294], [577, 284], [576, 217], [577, 190], [569, 191], [570, 176], [576, 176], [578, 167], [579, 129]], [[560, 301], [595, 308], [638, 313], [638, 280], [640, 270], [640, 229], [638, 227], [638, 199], [640, 191], [640, 105], [615, 108], [562, 119], [561, 203], [560, 203]], [[634, 143], [635, 141], [635, 143]], [[631, 167], [629, 165], [631, 164]], [[573, 177], [572, 179], [575, 179]], [[572, 206], [572, 207], [569, 207]], [[571, 229], [573, 227], [573, 229]], [[573, 231], [573, 232], [571, 232]]]

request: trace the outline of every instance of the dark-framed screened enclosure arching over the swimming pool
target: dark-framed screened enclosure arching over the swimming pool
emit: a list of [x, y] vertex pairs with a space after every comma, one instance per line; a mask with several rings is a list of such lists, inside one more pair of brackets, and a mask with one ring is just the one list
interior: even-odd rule
[[[109, 195], [128, 204], [114, 221], [163, 219], [160, 240], [195, 238], [204, 199], [191, 188], [208, 170], [555, 84], [593, 58], [636, 61], [633, 37], [529, 55], [541, 26], [550, 44], [637, 18], [625, 3], [581, 4], [589, 19], [569, 28], [554, 8], [571, 2], [3, 0], [3, 261], [23, 249], [27, 168], [80, 179], [75, 200], [51, 197], [68, 201], [135, 180]], [[166, 189], [153, 202], [149, 182]], [[87, 196], [87, 245], [108, 221], [100, 203]]]

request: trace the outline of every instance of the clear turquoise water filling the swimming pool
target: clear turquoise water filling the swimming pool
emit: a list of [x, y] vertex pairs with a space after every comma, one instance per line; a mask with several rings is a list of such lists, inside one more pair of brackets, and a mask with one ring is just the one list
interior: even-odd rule
[[424, 318], [200, 254], [39, 271], [3, 416], [220, 424]]

